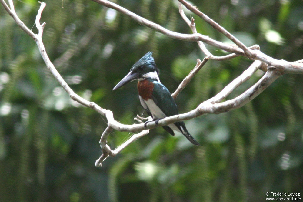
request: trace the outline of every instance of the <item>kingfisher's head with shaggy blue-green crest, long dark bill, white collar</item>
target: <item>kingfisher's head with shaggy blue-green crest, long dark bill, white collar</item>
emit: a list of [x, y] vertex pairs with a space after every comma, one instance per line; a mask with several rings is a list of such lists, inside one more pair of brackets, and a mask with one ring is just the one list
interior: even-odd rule
[[145, 56], [139, 59], [132, 66], [130, 72], [113, 88], [113, 90], [116, 90], [134, 80], [151, 78], [159, 81], [159, 72], [156, 67], [155, 60], [151, 54], [152, 52], [148, 52], [145, 54]]

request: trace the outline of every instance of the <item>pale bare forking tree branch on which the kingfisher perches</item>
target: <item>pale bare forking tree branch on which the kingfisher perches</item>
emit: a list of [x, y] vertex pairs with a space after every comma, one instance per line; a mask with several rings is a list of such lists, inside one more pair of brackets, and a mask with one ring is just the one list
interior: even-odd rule
[[[179, 39], [179, 40], [185, 40], [185, 41], [194, 41], [198, 42], [199, 47], [202, 49], [202, 51], [207, 55], [205, 59], [201, 62], [198, 60], [197, 65], [195, 68], [188, 74], [188, 76], [183, 79], [183, 81], [180, 83], [179, 87], [176, 89], [176, 91], [172, 94], [172, 96], [175, 98], [181, 91], [182, 89], [185, 88], [185, 86], [189, 83], [189, 81], [195, 76], [195, 74], [198, 73], [198, 71], [201, 69], [201, 67], [205, 64], [205, 62], [208, 61], [208, 59], [213, 59], [213, 60], [223, 60], [223, 59], [230, 59], [235, 56], [245, 56], [247, 58], [251, 58], [253, 56], [254, 62], [251, 64], [251, 66], [248, 67], [247, 70], [245, 70], [240, 76], [235, 78], [233, 81], [231, 81], [225, 88], [221, 90], [217, 95], [214, 97], [200, 103], [195, 109], [183, 113], [183, 114], [178, 114], [174, 116], [169, 116], [165, 117], [161, 120], [158, 121], [157, 126], [166, 126], [168, 124], [177, 122], [177, 121], [183, 121], [183, 120], [189, 120], [192, 118], [195, 118], [197, 116], [201, 116], [202, 114], [206, 113], [223, 113], [227, 112], [233, 109], [237, 109], [252, 99], [254, 99], [256, 96], [258, 96], [261, 92], [263, 92], [272, 82], [275, 81], [279, 76], [285, 73], [297, 73], [297, 74], [303, 74], [303, 64], [302, 60], [296, 61], [296, 62], [288, 62], [285, 60], [277, 60], [274, 58], [271, 58], [270, 56], [267, 56], [266, 54], [262, 53], [260, 50], [258, 50], [258, 45], [254, 47], [249, 47], [247, 48], [246, 46], [242, 45], [241, 42], [239, 42], [237, 39], [235, 39], [229, 32], [227, 32], [225, 29], [222, 29], [217, 26], [217, 24], [214, 24], [213, 21], [210, 21], [214, 26], [215, 29], [217, 29], [220, 32], [224, 32], [224, 34], [231, 40], [233, 40], [239, 47], [232, 46], [232, 45], [227, 45], [222, 42], [218, 42], [216, 40], [211, 39], [208, 36], [201, 35], [199, 33], [196, 33], [195, 25], [194, 25], [194, 20], [192, 19], [189, 21], [185, 15], [182, 14], [182, 9], [180, 12], [180, 15], [182, 18], [187, 22], [187, 24], [191, 27], [191, 30], [193, 34], [182, 34], [178, 32], [173, 32], [168, 29], [165, 29], [161, 27], [160, 25], [157, 25], [145, 18], [142, 18], [138, 15], [136, 15], [133, 12], [128, 11], [127, 9], [109, 2], [105, 0], [93, 0], [99, 4], [105, 5], [108, 8], [113, 8], [116, 9], [118, 12], [121, 12], [122, 14], [125, 14], [132, 19], [134, 19], [136, 22], [140, 23], [141, 25], [145, 25], [151, 29], [154, 29], [158, 32], [161, 32], [162, 34], [174, 38], [174, 39]], [[146, 134], [149, 133], [149, 129], [155, 128], [156, 124], [155, 122], [148, 122], [145, 124], [140, 121], [138, 124], [132, 124], [132, 125], [127, 125], [127, 124], [122, 124], [119, 123], [117, 120], [115, 120], [113, 116], [113, 112], [111, 110], [103, 109], [100, 106], [98, 106], [94, 102], [90, 102], [81, 96], [77, 95], [69, 86], [68, 84], [64, 81], [62, 76], [58, 73], [56, 70], [55, 66], [53, 63], [50, 61], [44, 44], [42, 42], [42, 34], [43, 34], [43, 28], [45, 26], [45, 22], [40, 24], [40, 18], [42, 15], [42, 11], [45, 8], [45, 3], [42, 2], [40, 5], [40, 8], [38, 10], [35, 24], [38, 29], [38, 34], [33, 33], [26, 25], [18, 18], [14, 5], [12, 0], [8, 0], [10, 7], [5, 3], [4, 0], [0, 0], [1, 4], [5, 8], [5, 10], [8, 12], [9, 15], [12, 16], [12, 18], [16, 21], [18, 26], [24, 30], [30, 37], [32, 37], [37, 46], [38, 49], [41, 53], [41, 56], [46, 64], [46, 67], [49, 69], [49, 71], [52, 73], [52, 75], [55, 77], [55, 79], [58, 80], [59, 84], [62, 86], [62, 88], [69, 94], [69, 96], [77, 101], [78, 103], [81, 103], [84, 106], [87, 106], [89, 108], [94, 109], [96, 112], [101, 114], [102, 116], [105, 116], [107, 119], [107, 128], [104, 130], [102, 133], [101, 139], [100, 139], [100, 146], [102, 148], [102, 155], [100, 158], [96, 161], [95, 165], [102, 166], [102, 162], [108, 157], [108, 156], [115, 156], [119, 152], [121, 152], [125, 147], [127, 147], [130, 143], [134, 142], [138, 138], [145, 136]], [[180, 0], [180, 2], [185, 2], [183, 0]], [[193, 7], [194, 8], [194, 7]], [[194, 9], [195, 10], [195, 9]], [[196, 12], [196, 11], [195, 11]], [[201, 16], [204, 16], [201, 15]], [[205, 16], [203, 17], [203, 19]], [[207, 19], [207, 18], [206, 18]], [[209, 21], [209, 20], [208, 20]], [[225, 30], [225, 31], [224, 31]], [[212, 45], [216, 48], [220, 48], [222, 50], [231, 52], [231, 54], [227, 56], [213, 56], [211, 55], [208, 50], [205, 48], [205, 45], [203, 44], [207, 43], [209, 45]], [[224, 102], [221, 102], [222, 100], [226, 99], [228, 95], [231, 94], [238, 86], [240, 86], [242, 83], [247, 81], [248, 79], [251, 78], [251, 76], [260, 68], [265, 69], [266, 72], [265, 74], [256, 82], [254, 85], [252, 85], [250, 88], [248, 88], [244, 93], [236, 96], [233, 99], [226, 100]], [[267, 67], [267, 68], [263, 68]], [[142, 120], [142, 118], [137, 117], [137, 120]], [[149, 117], [149, 120], [151, 120], [151, 117]], [[107, 144], [107, 138], [110, 135], [110, 133], [113, 130], [118, 130], [118, 131], [127, 131], [127, 132], [132, 132], [136, 133], [132, 135], [128, 140], [126, 140], [124, 143], [122, 143], [120, 146], [118, 146], [116, 149], [112, 150], [110, 146]]]

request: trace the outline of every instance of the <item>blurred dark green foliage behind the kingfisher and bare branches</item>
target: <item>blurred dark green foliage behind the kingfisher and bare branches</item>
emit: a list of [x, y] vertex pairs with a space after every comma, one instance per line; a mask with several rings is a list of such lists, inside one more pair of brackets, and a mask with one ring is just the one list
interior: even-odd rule
[[[195, 42], [170, 39], [95, 2], [45, 2], [41, 22], [46, 22], [48, 56], [76, 93], [112, 110], [121, 123], [135, 123], [143, 109], [136, 82], [112, 88], [146, 52], [153, 51], [161, 82], [171, 92], [205, 56]], [[115, 2], [167, 29], [191, 33], [175, 0]], [[193, 2], [245, 45], [258, 44], [276, 59], [303, 59], [301, 0]], [[40, 4], [14, 4], [37, 33]], [[186, 14], [195, 17], [199, 33], [229, 42]], [[226, 54], [207, 47], [215, 55]], [[214, 96], [251, 62], [243, 57], [209, 61], [177, 97], [180, 113]], [[228, 98], [263, 73], [258, 70]], [[96, 168], [106, 120], [69, 98], [35, 42], [1, 6], [0, 201], [264, 201], [266, 192], [302, 195], [302, 81], [302, 75], [283, 75], [240, 109], [185, 121], [201, 146], [160, 127]], [[115, 148], [131, 135], [113, 131], [108, 144]]]

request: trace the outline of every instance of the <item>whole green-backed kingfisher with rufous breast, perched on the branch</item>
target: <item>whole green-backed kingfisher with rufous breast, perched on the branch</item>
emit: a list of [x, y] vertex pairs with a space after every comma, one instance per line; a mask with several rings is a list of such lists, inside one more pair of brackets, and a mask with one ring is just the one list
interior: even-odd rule
[[[178, 113], [175, 100], [169, 90], [160, 82], [159, 70], [155, 60], [148, 52], [136, 62], [130, 72], [113, 88], [116, 90], [128, 82], [138, 80], [138, 94], [142, 107], [153, 118], [156, 126], [160, 119], [166, 116], [173, 116]], [[150, 122], [145, 122], [144, 126]], [[199, 145], [191, 134], [188, 133], [183, 121], [162, 126], [168, 133], [175, 135], [174, 130], [182, 133], [191, 143]]]

